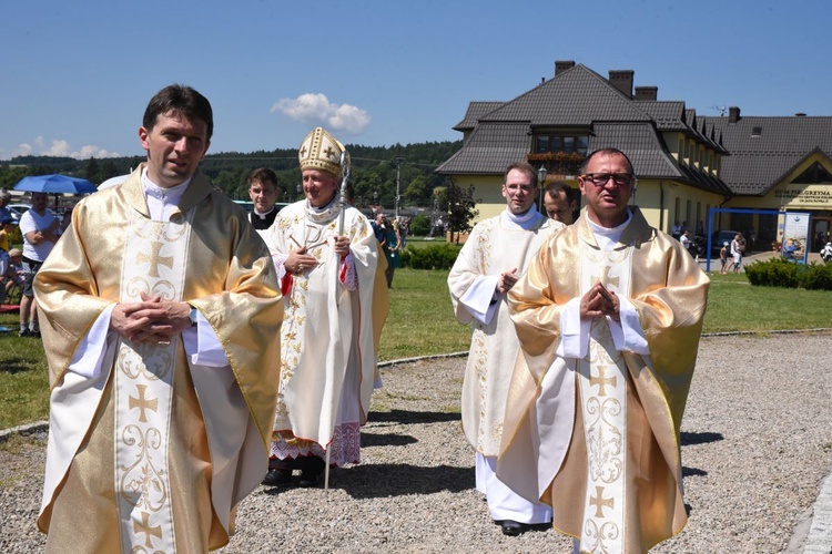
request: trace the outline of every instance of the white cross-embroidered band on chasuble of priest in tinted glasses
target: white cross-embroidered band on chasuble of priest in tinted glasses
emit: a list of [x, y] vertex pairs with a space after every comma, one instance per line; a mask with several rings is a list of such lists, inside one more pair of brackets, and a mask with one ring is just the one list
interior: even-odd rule
[[[632, 248], [597, 250], [581, 243], [581, 296], [600, 281], [630, 296]], [[577, 377], [587, 445], [581, 552], [625, 551], [627, 462], [627, 365], [615, 346], [609, 322], [596, 318], [587, 357]]]

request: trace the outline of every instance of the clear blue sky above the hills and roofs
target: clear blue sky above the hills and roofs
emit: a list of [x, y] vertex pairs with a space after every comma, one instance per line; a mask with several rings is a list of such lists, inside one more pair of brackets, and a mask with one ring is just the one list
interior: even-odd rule
[[190, 84], [210, 152], [457, 140], [471, 100], [510, 100], [556, 60], [632, 69], [699, 114], [832, 115], [832, 2], [10, 0], [0, 160], [142, 155], [150, 98]]

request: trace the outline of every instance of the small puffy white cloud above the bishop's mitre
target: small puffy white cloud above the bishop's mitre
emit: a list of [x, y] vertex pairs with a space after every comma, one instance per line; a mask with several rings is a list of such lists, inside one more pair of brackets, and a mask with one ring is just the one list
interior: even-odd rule
[[333, 104], [321, 93], [301, 94], [296, 99], [281, 99], [271, 110], [304, 123], [321, 124], [331, 131], [361, 133], [369, 125], [366, 110], [351, 104]]

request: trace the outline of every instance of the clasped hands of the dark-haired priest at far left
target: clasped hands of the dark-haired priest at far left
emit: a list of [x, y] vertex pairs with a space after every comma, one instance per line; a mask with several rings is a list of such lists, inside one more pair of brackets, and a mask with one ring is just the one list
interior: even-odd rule
[[110, 317], [110, 328], [133, 342], [169, 342], [191, 326], [187, 302], [162, 301], [141, 294], [142, 301], [119, 304]]

